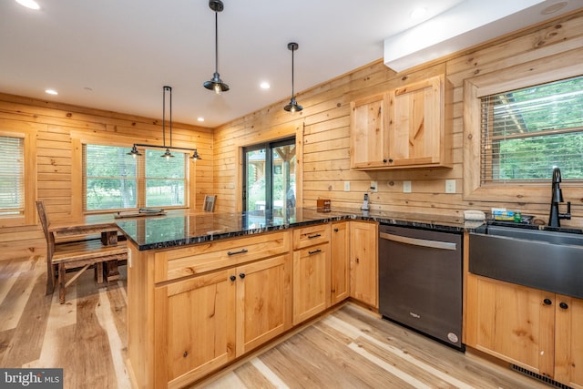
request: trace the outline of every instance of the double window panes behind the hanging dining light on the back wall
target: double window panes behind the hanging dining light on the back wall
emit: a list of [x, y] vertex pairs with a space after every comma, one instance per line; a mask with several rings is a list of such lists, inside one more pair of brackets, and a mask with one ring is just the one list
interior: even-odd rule
[[188, 188], [188, 155], [172, 151], [160, 158], [159, 149], [83, 145], [85, 210], [126, 210], [140, 207], [184, 207]]

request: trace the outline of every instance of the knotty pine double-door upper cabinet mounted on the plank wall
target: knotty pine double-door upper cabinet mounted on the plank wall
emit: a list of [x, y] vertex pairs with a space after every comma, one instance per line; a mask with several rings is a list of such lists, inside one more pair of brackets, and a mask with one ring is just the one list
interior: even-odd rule
[[353, 101], [351, 167], [451, 167], [451, 89], [441, 75]]

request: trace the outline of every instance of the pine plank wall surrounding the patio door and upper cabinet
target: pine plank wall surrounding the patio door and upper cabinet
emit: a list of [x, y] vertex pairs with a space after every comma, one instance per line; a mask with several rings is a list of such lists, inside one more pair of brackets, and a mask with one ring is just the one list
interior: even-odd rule
[[[463, 210], [490, 210], [506, 207], [522, 210], [547, 220], [550, 201], [496, 203], [466, 201], [463, 197], [463, 84], [464, 80], [528, 61], [565, 53], [580, 54], [583, 46], [583, 11], [563, 16], [540, 26], [533, 26], [509, 36], [476, 46], [416, 67], [411, 72], [396, 74], [381, 60], [333, 79], [297, 95], [304, 109], [294, 116], [283, 111], [286, 101], [266, 107], [235, 120], [215, 131], [215, 191], [220, 195], [217, 210], [235, 211], [240, 207], [240, 148], [293, 133], [301, 138], [302, 154], [298, 154], [302, 184], [298, 185], [298, 205], [315, 207], [317, 199], [331, 199], [332, 207], [360, 208], [363, 193], [370, 181], [378, 181], [378, 192], [371, 194], [372, 210], [409, 210], [424, 214], [462, 215]], [[452, 169], [402, 169], [355, 171], [350, 169], [350, 101], [387, 89], [399, 87], [425, 77], [445, 73], [454, 86], [453, 161]], [[583, 67], [581, 68], [583, 74]], [[455, 179], [455, 194], [445, 193], [445, 179]], [[412, 181], [412, 193], [403, 193], [403, 181]], [[344, 181], [350, 181], [350, 192], [344, 192]], [[510, 189], [512, 190], [512, 189]], [[573, 220], [562, 225], [583, 224], [583, 199], [568, 198], [573, 203]], [[568, 199], [567, 199], [568, 198]], [[225, 201], [228, 200], [228, 201]]]

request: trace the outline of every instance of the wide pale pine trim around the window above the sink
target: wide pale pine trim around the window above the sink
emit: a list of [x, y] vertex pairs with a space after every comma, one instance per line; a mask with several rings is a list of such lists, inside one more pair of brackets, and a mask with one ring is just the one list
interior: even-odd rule
[[[464, 200], [549, 203], [550, 176], [548, 182], [481, 183], [481, 97], [580, 76], [580, 65], [566, 66], [565, 62], [567, 61], [564, 56], [545, 57], [519, 66], [506, 67], [484, 76], [465, 79], [463, 91]], [[578, 64], [578, 59], [574, 58], [568, 63]], [[564, 181], [561, 187], [568, 188], [564, 193], [571, 199], [583, 197], [583, 189], [577, 183]]]

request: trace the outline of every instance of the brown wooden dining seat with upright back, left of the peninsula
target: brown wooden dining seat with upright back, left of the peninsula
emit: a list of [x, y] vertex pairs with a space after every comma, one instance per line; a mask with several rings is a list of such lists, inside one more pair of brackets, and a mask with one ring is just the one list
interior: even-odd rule
[[[95, 268], [97, 283], [103, 283], [103, 262], [128, 260], [128, 246], [125, 241], [116, 245], [104, 245], [100, 239], [56, 242], [55, 234], [49, 230], [45, 203], [36, 201], [36, 210], [46, 238], [46, 294], [55, 291], [56, 276], [60, 303], [65, 302], [66, 287], [75, 282], [90, 266]], [[77, 272], [66, 281], [66, 271], [73, 269]]]

